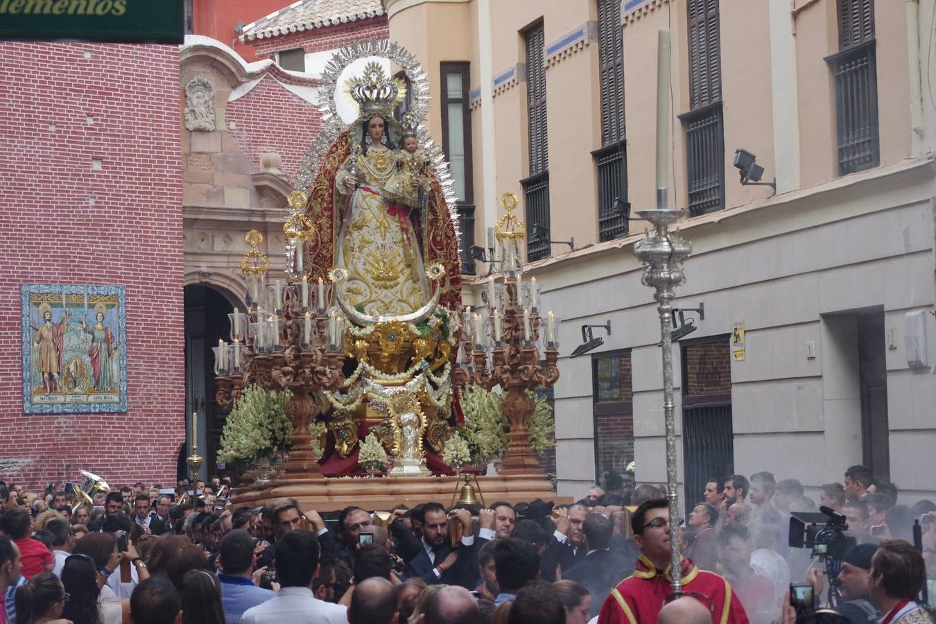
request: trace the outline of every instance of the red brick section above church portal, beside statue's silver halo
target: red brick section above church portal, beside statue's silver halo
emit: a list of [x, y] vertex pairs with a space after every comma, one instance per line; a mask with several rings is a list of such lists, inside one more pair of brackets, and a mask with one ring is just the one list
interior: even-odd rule
[[255, 168], [259, 168], [261, 153], [276, 152], [283, 158], [281, 169], [289, 181], [296, 177], [302, 156], [322, 124], [314, 105], [286, 91], [271, 75], [228, 103], [226, 119], [227, 134]]

